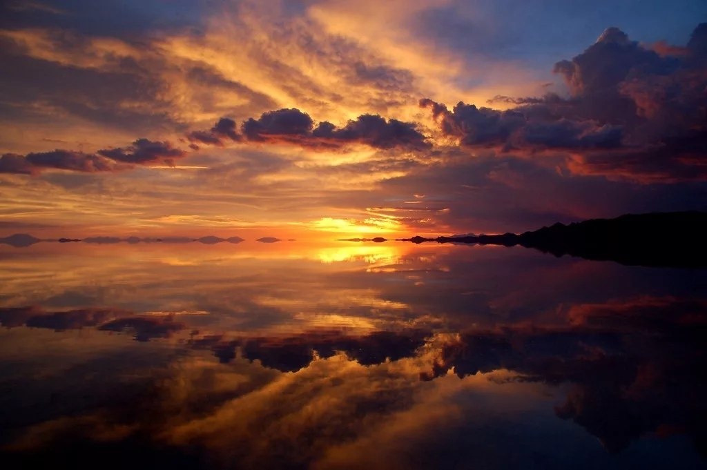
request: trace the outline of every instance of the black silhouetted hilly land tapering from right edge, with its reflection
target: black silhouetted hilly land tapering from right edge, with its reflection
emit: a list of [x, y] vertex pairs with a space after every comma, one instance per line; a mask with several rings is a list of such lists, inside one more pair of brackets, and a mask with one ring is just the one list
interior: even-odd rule
[[[612, 219], [556, 223], [533, 232], [503, 235], [411, 237], [397, 241], [502, 245], [539, 249], [561, 257], [607, 260], [631, 266], [707, 267], [707, 212], [627, 214]], [[349, 241], [385, 241], [385, 239]]]

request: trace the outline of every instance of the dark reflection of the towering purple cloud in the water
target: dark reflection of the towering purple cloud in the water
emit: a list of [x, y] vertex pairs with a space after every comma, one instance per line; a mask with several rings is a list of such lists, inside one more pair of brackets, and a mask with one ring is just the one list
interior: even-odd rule
[[556, 407], [596, 435], [609, 452], [661, 428], [691, 435], [703, 448], [707, 407], [696, 396], [707, 381], [694, 371], [707, 365], [701, 353], [707, 334], [703, 300], [638, 298], [574, 305], [571, 327], [511, 326], [470, 331], [444, 346], [440, 362], [422, 377], [454, 368], [457, 375], [508, 369], [519, 380], [573, 389]]

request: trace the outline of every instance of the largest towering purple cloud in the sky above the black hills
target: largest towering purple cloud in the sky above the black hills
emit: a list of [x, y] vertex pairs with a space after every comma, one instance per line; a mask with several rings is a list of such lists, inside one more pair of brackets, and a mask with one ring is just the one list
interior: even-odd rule
[[498, 111], [463, 102], [452, 111], [433, 100], [431, 110], [445, 136], [463, 146], [502, 151], [571, 151], [567, 167], [640, 183], [706, 180], [707, 23], [686, 47], [654, 49], [608, 28], [595, 44], [554, 71], [570, 98], [497, 96], [517, 105]]

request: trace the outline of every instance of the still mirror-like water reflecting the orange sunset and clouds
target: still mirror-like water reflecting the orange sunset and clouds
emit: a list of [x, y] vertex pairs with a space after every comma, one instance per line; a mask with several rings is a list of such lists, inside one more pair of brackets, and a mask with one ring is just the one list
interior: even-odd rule
[[0, 245], [3, 468], [705, 468], [707, 271]]

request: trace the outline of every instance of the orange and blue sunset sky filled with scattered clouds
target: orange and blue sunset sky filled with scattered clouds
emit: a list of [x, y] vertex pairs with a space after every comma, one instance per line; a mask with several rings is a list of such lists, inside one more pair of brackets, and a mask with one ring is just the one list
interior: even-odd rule
[[707, 4], [0, 3], [0, 236], [707, 209]]

